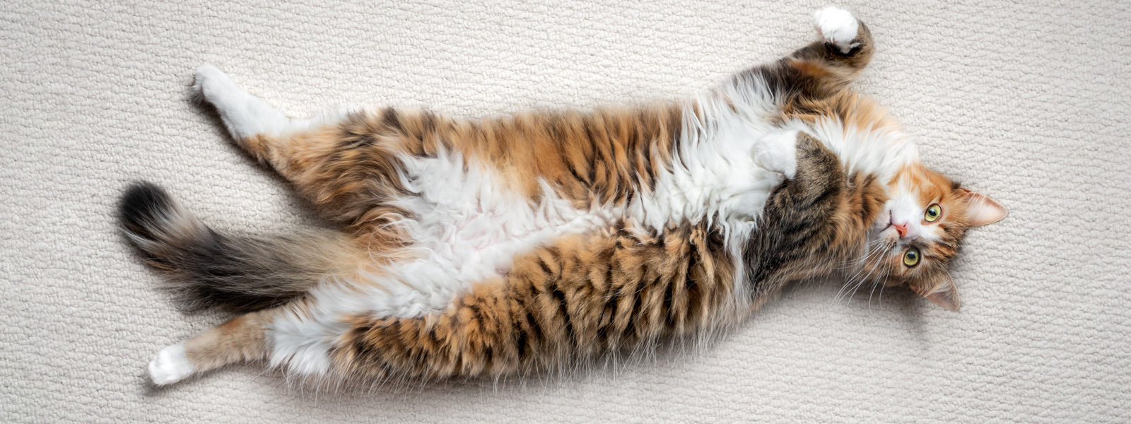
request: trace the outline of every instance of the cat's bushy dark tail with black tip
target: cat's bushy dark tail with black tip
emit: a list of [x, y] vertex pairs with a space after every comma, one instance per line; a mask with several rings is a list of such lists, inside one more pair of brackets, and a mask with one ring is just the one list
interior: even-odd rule
[[326, 278], [355, 271], [359, 249], [342, 233], [254, 237], [221, 234], [165, 190], [130, 187], [119, 205], [127, 239], [166, 275], [189, 309], [253, 311], [307, 293]]

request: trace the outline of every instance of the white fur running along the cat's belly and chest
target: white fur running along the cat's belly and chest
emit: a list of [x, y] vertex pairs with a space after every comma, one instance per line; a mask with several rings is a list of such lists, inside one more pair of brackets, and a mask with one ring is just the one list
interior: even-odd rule
[[[329, 349], [348, 330], [343, 317], [441, 312], [474, 283], [506, 274], [516, 254], [566, 234], [607, 228], [619, 219], [657, 233], [672, 223], [709, 222], [723, 231], [737, 257], [770, 190], [782, 181], [751, 154], [754, 140], [775, 129], [750, 115], [724, 113], [716, 103], [699, 104], [707, 106], [702, 114], [710, 123], [685, 119], [672, 168], [627, 207], [580, 210], [549, 185], [539, 201], [532, 202], [498, 184], [500, 176], [485, 164], [472, 161], [465, 167], [463, 157], [444, 153], [405, 157], [404, 183], [417, 196], [396, 201], [412, 214], [398, 217], [397, 225], [412, 235], [409, 249], [418, 259], [391, 266], [363, 285], [325, 282], [313, 289], [304, 313], [282, 314], [270, 325], [271, 365], [285, 364], [297, 375], [325, 374]], [[736, 276], [742, 278], [741, 270]], [[736, 305], [744, 295], [742, 289], [735, 293]]]

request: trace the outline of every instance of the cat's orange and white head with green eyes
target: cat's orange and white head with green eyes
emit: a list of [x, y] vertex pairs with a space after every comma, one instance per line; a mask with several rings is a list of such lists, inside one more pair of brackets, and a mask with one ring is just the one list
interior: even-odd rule
[[961, 301], [950, 260], [967, 228], [999, 222], [1008, 211], [920, 164], [905, 167], [888, 187], [889, 200], [870, 231], [862, 271], [957, 311]]

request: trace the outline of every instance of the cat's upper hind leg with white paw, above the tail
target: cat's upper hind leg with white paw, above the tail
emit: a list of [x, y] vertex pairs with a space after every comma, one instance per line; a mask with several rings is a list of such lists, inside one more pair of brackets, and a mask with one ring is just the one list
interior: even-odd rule
[[391, 107], [287, 119], [210, 64], [197, 70], [193, 87], [216, 107], [236, 144], [294, 184], [325, 217], [378, 250], [404, 243], [390, 223], [406, 213], [388, 205], [411, 196], [402, 157], [434, 153], [438, 127], [446, 121]]

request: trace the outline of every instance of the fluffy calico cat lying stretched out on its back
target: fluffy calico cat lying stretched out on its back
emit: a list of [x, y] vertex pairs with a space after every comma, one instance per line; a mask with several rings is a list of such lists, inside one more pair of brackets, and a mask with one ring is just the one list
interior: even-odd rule
[[720, 329], [831, 274], [958, 310], [948, 263], [1007, 211], [924, 167], [848, 88], [867, 27], [814, 17], [820, 41], [692, 99], [481, 121], [292, 120], [201, 67], [235, 141], [344, 231], [219, 233], [130, 188], [122, 227], [167, 287], [244, 312], [161, 351], [153, 381], [243, 361], [303, 379], [553, 370]]

